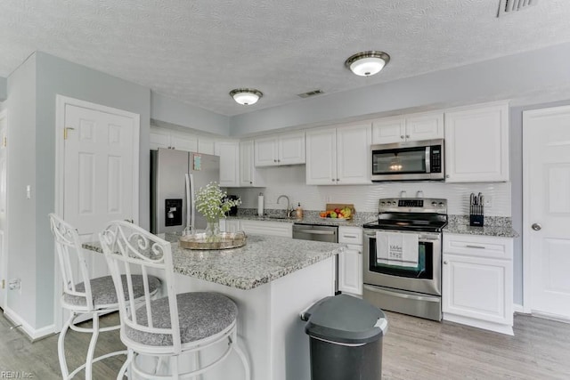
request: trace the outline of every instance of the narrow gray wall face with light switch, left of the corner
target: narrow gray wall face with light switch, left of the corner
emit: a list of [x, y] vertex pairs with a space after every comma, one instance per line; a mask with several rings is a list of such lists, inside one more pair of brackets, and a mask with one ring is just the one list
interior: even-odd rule
[[[53, 263], [45, 268], [42, 277], [51, 282], [42, 284], [44, 290], [37, 294], [35, 239], [36, 220], [36, 56], [32, 55], [8, 77], [8, 181], [7, 211], [8, 236], [6, 261], [8, 279], [21, 279], [21, 291], [6, 291], [7, 309], [25, 318], [31, 327], [37, 326], [37, 300], [49, 293], [53, 300]], [[47, 160], [47, 158], [46, 158]], [[52, 160], [53, 161], [53, 160]], [[46, 162], [47, 163], [47, 162]], [[32, 199], [26, 198], [26, 186], [34, 190]], [[50, 201], [53, 204], [53, 199]], [[44, 242], [46, 255], [52, 255], [53, 244]], [[42, 247], [44, 248], [44, 247]], [[41, 277], [40, 277], [41, 278]], [[49, 284], [49, 286], [46, 286]], [[53, 319], [53, 305], [46, 312]]]

